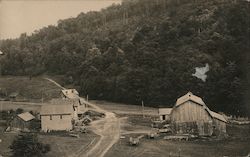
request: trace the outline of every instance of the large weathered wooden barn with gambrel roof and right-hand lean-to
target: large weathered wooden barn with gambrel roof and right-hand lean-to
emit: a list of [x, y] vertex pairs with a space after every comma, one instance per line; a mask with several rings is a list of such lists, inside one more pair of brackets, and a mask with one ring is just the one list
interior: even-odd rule
[[226, 133], [226, 119], [211, 111], [200, 97], [191, 92], [177, 99], [170, 119], [173, 131], [177, 134], [211, 136]]

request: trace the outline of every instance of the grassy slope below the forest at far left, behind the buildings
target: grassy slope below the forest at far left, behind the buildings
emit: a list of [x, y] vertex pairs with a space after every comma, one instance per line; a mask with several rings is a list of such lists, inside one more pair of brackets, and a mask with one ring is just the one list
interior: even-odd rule
[[30, 102], [41, 102], [60, 97], [60, 88], [42, 77], [1, 76], [0, 88], [7, 95], [18, 92], [19, 98]]

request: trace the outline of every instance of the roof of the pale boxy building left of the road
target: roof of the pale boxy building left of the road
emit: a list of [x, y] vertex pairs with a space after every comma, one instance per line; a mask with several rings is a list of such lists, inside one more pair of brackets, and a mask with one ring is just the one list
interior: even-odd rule
[[74, 112], [73, 106], [70, 104], [61, 105], [43, 105], [41, 107], [40, 115], [58, 115], [58, 114], [72, 114]]

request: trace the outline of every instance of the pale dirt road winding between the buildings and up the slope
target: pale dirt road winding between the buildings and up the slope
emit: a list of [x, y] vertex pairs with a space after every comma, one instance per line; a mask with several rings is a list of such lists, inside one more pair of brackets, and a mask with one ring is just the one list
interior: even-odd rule
[[[54, 83], [58, 87], [65, 89], [54, 80], [49, 79], [49, 78], [45, 78], [45, 79]], [[84, 98], [80, 97], [80, 101], [92, 107], [94, 110], [104, 113], [105, 118], [92, 122], [90, 126], [90, 129], [101, 137], [100, 140], [87, 152], [82, 151], [78, 153], [79, 155], [77, 156], [78, 157], [103, 157], [108, 152], [108, 150], [119, 140], [120, 121], [115, 116], [114, 113], [106, 111], [98, 107], [94, 103], [87, 102], [85, 101]]]

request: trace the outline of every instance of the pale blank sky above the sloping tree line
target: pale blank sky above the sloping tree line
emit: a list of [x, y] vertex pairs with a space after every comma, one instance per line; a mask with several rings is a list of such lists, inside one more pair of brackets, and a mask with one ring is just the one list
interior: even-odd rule
[[28, 35], [60, 19], [99, 11], [120, 0], [0, 0], [0, 39]]

